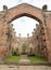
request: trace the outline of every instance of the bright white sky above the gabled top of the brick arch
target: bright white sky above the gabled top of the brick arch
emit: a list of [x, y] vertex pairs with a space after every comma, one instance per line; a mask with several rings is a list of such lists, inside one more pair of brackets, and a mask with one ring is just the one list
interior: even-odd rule
[[48, 4], [48, 10], [51, 10], [51, 0], [0, 0], [0, 11], [4, 4], [10, 9], [24, 2], [40, 9], [42, 9], [43, 4]]

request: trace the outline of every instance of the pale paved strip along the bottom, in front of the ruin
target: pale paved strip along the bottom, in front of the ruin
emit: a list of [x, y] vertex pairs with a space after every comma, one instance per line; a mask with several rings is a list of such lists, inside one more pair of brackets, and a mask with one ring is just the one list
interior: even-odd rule
[[0, 70], [51, 70], [51, 67], [49, 67], [49, 66], [0, 65]]

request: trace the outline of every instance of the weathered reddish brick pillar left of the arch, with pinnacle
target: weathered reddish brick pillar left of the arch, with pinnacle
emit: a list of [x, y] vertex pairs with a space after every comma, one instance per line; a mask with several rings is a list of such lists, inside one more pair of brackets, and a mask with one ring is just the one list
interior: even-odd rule
[[8, 6], [3, 5], [3, 11], [0, 12], [0, 58], [3, 58], [5, 55], [8, 55]]

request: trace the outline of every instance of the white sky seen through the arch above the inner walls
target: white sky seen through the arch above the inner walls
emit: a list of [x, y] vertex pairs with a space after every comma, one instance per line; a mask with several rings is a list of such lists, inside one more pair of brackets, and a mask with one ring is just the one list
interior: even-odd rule
[[21, 34], [21, 37], [27, 38], [27, 33], [29, 33], [29, 37], [33, 36], [31, 32], [36, 29], [36, 24], [39, 25], [39, 22], [28, 16], [23, 16], [13, 20], [11, 24], [13, 24], [13, 29], [16, 32], [15, 36], [20, 37]]

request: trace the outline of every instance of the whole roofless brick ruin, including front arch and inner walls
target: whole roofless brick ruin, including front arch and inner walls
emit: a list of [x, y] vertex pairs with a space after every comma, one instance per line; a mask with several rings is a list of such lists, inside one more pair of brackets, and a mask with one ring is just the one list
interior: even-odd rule
[[[10, 23], [22, 16], [39, 22], [31, 37], [29, 34], [27, 38], [21, 38], [21, 34], [15, 37], [13, 25]], [[0, 12], [0, 59], [11, 54], [13, 48], [18, 48], [20, 54], [23, 53], [21, 45], [24, 43], [26, 43], [26, 54], [31, 52], [51, 61], [51, 12], [47, 11], [47, 5], [43, 5], [42, 10], [27, 3], [11, 9], [3, 5], [3, 11]]]

